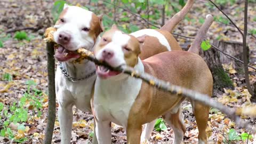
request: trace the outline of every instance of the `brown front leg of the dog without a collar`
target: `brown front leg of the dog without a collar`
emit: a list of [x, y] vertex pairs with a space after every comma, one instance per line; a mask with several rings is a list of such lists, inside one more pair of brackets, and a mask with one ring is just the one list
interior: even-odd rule
[[140, 144], [142, 125], [130, 124], [127, 126], [127, 144]]

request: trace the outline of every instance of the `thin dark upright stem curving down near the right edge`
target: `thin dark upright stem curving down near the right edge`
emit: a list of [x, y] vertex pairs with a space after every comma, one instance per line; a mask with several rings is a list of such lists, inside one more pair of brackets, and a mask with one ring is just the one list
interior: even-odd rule
[[252, 97], [255, 97], [254, 91], [252, 90], [252, 87], [250, 85], [249, 72], [248, 72], [248, 58], [247, 58], [247, 44], [246, 44], [247, 21], [248, 21], [248, 0], [245, 0], [244, 2], [244, 35], [243, 35], [244, 75], [245, 75], [247, 90], [250, 92]]

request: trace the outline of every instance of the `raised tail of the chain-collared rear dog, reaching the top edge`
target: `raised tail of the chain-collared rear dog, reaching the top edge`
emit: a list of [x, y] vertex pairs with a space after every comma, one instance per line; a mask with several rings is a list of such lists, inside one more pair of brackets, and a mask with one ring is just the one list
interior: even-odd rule
[[168, 20], [165, 23], [165, 25], [160, 29], [166, 30], [166, 31], [169, 31], [170, 33], [172, 33], [175, 26], [177, 26], [179, 24], [179, 22], [181, 20], [183, 20], [185, 15], [189, 12], [189, 10], [193, 6], [194, 2], [195, 2], [195, 0], [188, 0], [186, 5], [178, 13], [173, 15], [173, 17], [170, 20]]

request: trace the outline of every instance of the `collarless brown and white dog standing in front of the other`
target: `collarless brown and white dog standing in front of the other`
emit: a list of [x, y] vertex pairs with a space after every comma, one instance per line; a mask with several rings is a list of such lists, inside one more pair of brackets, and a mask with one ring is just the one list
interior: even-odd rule
[[[212, 94], [212, 75], [205, 61], [195, 53], [163, 52], [145, 60], [137, 38], [113, 26], [95, 47], [95, 57], [112, 67], [128, 65], [140, 73], [149, 73], [174, 85], [207, 95]], [[94, 96], [91, 101], [98, 143], [111, 144], [110, 122], [126, 129], [127, 143], [140, 143], [143, 124], [162, 116], [174, 131], [173, 143], [181, 143], [185, 133], [181, 102], [185, 99], [160, 91], [141, 79], [97, 67]], [[209, 107], [191, 101], [199, 130], [198, 143], [207, 143], [205, 129]]]

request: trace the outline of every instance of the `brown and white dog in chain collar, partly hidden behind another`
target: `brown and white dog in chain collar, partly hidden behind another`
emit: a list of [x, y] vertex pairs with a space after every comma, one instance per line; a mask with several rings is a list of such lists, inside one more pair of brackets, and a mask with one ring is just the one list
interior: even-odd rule
[[[188, 10], [186, 9], [186, 11]], [[177, 24], [175, 23], [175, 25]], [[63, 144], [70, 143], [73, 105], [82, 111], [91, 112], [90, 99], [97, 77], [95, 75], [96, 68], [94, 63], [87, 60], [83, 60], [81, 63], [73, 63], [72, 61], [79, 58], [76, 53], [79, 47], [94, 51], [95, 44], [102, 41], [99, 36], [103, 31], [102, 17], [98, 17], [93, 12], [81, 7], [65, 4], [54, 27], [57, 28], [54, 33], [54, 41], [61, 45], [55, 52], [55, 59], [61, 63], [55, 74], [55, 86], [59, 103], [58, 117], [61, 143]], [[132, 35], [138, 37], [141, 42], [140, 45], [144, 47], [140, 55], [141, 59], [164, 51], [181, 50], [169, 31], [145, 29], [132, 33]], [[65, 77], [62, 74], [63, 71], [69, 76]], [[77, 81], [72, 82], [67, 77], [72, 77]], [[150, 138], [153, 128], [154, 121], [146, 126], [142, 140]], [[97, 143], [97, 141], [94, 139], [93, 143]]]

